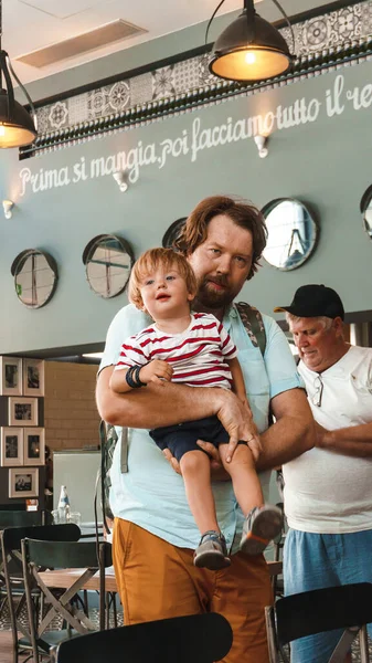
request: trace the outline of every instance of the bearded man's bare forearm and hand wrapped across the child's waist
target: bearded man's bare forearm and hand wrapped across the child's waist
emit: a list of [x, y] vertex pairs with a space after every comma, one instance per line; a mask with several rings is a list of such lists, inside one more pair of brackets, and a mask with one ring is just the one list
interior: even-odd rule
[[118, 394], [109, 388], [113, 370], [109, 366], [100, 371], [96, 389], [98, 412], [109, 423], [151, 429], [216, 414], [231, 440], [249, 440], [255, 434], [247, 408], [226, 389], [164, 382]]

